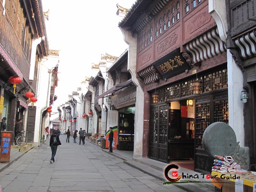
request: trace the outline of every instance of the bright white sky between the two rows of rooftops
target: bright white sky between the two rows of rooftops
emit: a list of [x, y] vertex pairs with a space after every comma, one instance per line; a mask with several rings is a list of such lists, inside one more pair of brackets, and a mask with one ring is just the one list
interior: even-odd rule
[[85, 76], [95, 76], [91, 64], [100, 62], [101, 54], [120, 56], [128, 45], [118, 28], [118, 3], [131, 8], [136, 0], [42, 0], [49, 48], [60, 50], [58, 99], [54, 106], [68, 100], [68, 94], [80, 87]]

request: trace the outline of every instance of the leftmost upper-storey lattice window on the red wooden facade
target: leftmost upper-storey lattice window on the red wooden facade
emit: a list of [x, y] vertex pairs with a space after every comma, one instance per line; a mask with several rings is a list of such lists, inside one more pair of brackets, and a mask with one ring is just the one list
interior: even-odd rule
[[152, 23], [148, 24], [138, 34], [138, 50], [141, 51], [143, 48], [148, 46], [153, 40], [153, 26]]

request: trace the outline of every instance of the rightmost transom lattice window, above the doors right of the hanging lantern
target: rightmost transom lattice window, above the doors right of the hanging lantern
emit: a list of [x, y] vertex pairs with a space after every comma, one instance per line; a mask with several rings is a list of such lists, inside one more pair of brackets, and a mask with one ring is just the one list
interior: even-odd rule
[[228, 70], [219, 70], [205, 75], [203, 80], [204, 91], [208, 92], [228, 87]]

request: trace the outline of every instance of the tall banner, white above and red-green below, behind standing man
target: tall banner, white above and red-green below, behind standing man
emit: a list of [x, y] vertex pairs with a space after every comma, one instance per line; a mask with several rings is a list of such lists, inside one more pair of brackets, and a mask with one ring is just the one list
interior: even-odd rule
[[106, 148], [109, 148], [109, 128], [112, 127], [112, 131], [114, 133], [114, 140], [112, 142], [112, 148], [116, 149], [117, 144], [117, 125], [118, 125], [118, 111], [108, 111], [108, 120], [107, 120], [107, 132], [106, 132]]

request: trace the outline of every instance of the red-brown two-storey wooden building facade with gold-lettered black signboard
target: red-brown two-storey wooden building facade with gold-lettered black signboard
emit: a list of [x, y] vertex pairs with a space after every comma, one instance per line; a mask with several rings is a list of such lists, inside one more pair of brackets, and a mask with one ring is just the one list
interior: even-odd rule
[[162, 162], [193, 158], [195, 170], [209, 172], [212, 159], [202, 136], [209, 124], [228, 123], [228, 81], [226, 47], [208, 1], [137, 0], [119, 27], [137, 42], [142, 156]]

